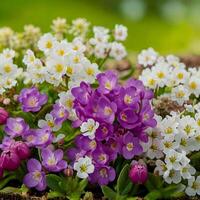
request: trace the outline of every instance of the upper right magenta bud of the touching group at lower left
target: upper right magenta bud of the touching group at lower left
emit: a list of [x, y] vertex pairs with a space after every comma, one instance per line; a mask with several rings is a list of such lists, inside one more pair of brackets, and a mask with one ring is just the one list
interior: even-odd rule
[[30, 150], [28, 146], [23, 142], [16, 142], [14, 144], [14, 149], [21, 160], [25, 160], [30, 156]]

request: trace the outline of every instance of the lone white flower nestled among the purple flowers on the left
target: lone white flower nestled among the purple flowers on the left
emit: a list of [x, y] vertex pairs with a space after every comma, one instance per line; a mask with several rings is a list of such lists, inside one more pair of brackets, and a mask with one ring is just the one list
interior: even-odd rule
[[40, 119], [38, 121], [38, 126], [40, 128], [48, 126], [52, 131], [58, 131], [61, 128], [61, 125], [56, 124], [54, 120], [55, 119], [53, 118], [53, 116], [48, 113], [45, 116], [45, 120]]

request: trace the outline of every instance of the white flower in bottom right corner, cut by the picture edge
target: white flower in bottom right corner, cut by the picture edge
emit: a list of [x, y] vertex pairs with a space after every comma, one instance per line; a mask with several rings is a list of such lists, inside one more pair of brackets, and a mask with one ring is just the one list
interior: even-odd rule
[[196, 180], [194, 176], [188, 180], [185, 192], [188, 196], [200, 195], [200, 176], [197, 176]]

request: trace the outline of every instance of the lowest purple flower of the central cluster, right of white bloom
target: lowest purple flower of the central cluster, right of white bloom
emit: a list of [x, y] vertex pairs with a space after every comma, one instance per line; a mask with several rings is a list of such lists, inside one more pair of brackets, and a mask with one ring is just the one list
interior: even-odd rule
[[97, 166], [95, 172], [90, 176], [91, 182], [98, 182], [99, 185], [107, 185], [115, 180], [115, 170], [110, 166]]

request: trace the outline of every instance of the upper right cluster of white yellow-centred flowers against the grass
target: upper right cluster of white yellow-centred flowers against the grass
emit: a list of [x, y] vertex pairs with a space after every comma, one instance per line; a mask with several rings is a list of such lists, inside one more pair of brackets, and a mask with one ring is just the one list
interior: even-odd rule
[[180, 105], [192, 96], [199, 97], [200, 70], [187, 69], [178, 57], [173, 55], [162, 57], [150, 48], [142, 51], [138, 56], [138, 63], [147, 67], [139, 77], [145, 86], [154, 90], [166, 89], [164, 95]]

